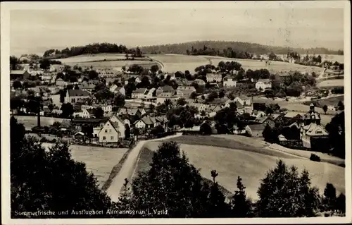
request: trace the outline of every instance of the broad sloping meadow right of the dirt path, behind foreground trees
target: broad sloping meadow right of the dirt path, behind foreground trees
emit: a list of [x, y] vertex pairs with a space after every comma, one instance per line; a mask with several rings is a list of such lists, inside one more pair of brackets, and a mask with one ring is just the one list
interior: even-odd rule
[[[210, 171], [215, 169], [219, 174], [216, 180], [229, 192], [234, 193], [237, 176], [241, 176], [246, 193], [253, 200], [258, 199], [256, 191], [260, 180], [265, 177], [266, 171], [275, 167], [278, 159], [283, 159], [289, 166], [297, 166], [298, 171], [307, 169], [313, 186], [317, 186], [320, 193], [324, 191], [326, 183], [332, 183], [338, 193], [345, 193], [343, 167], [327, 162], [313, 162], [287, 152], [260, 147], [263, 143], [253, 139], [249, 142], [213, 136], [182, 136], [171, 140], [180, 144], [180, 149], [189, 158], [189, 162], [200, 169], [204, 178], [211, 180]], [[235, 142], [237, 145], [233, 145]], [[137, 171], [149, 169], [151, 150], [156, 150], [160, 144], [161, 142], [149, 142], [145, 146], [137, 164]]]

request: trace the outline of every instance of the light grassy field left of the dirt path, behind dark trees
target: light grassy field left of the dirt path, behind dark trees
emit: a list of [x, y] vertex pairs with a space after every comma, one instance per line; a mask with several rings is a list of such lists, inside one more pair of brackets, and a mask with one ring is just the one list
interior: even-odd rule
[[[50, 147], [52, 144], [43, 143], [42, 145]], [[118, 164], [128, 149], [70, 145], [70, 150], [73, 159], [78, 162], [84, 162], [87, 166], [87, 171], [93, 172], [101, 188], [108, 179], [113, 166]]]

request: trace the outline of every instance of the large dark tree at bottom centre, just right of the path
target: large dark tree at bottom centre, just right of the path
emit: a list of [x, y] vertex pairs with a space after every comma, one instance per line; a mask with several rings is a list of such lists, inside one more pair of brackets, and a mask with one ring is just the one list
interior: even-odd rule
[[167, 215], [152, 217], [206, 217], [209, 209], [215, 207], [210, 204], [209, 194], [199, 170], [189, 164], [177, 143], [163, 142], [153, 153], [149, 171], [134, 179], [132, 196], [127, 200], [133, 209], [168, 209]]

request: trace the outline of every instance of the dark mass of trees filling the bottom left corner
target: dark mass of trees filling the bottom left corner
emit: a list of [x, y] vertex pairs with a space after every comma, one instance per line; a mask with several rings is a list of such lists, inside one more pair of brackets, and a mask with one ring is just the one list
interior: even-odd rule
[[[103, 193], [82, 162], [72, 159], [67, 142], [58, 142], [45, 149], [36, 138], [25, 138], [23, 124], [11, 118], [11, 217], [15, 212], [61, 212], [68, 210], [104, 210], [113, 208], [110, 197]], [[14, 138], [15, 137], [15, 138]], [[62, 187], [66, 188], [62, 188]], [[23, 211], [24, 210], [24, 211]], [[94, 217], [104, 217], [94, 215]], [[63, 215], [40, 215], [58, 218]], [[68, 217], [87, 217], [70, 214]]]

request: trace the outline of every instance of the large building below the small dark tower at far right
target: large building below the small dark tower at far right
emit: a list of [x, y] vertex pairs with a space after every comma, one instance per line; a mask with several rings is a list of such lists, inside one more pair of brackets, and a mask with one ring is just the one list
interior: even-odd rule
[[312, 151], [328, 152], [329, 151], [329, 134], [317, 123], [310, 123], [301, 128], [300, 138], [303, 147]]

